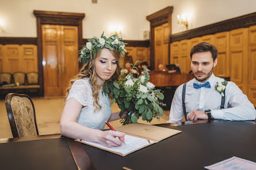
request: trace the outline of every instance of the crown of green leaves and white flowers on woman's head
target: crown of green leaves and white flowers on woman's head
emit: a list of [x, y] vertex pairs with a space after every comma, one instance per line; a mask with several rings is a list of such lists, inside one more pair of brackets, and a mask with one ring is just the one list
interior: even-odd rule
[[110, 50], [117, 49], [119, 52], [119, 56], [121, 57], [122, 54], [125, 54], [127, 51], [125, 49], [125, 45], [127, 43], [122, 41], [122, 38], [119, 38], [118, 35], [111, 35], [110, 37], [106, 38], [103, 36], [104, 31], [100, 37], [94, 37], [88, 39], [88, 42], [82, 50], [80, 50], [79, 54], [79, 62], [87, 63], [92, 57], [96, 57], [96, 54], [100, 53], [102, 48], [107, 48]]

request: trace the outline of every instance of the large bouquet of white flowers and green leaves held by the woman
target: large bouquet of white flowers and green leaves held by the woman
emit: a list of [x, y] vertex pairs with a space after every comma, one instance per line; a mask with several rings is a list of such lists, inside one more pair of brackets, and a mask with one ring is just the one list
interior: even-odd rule
[[[131, 64], [133, 69], [135, 64]], [[144, 69], [144, 73], [140, 78], [134, 78], [132, 73], [126, 74], [122, 72], [118, 82], [107, 81], [103, 85], [103, 93], [108, 94], [112, 99], [111, 104], [117, 102], [121, 112], [119, 116], [127, 111], [129, 112], [122, 118], [123, 125], [136, 123], [138, 118], [142, 116], [142, 120], [152, 121], [153, 117], [160, 119], [164, 112], [160, 105], [165, 105], [158, 100], [164, 99], [164, 94], [159, 89], [154, 90], [154, 85], [149, 82], [148, 69]]]

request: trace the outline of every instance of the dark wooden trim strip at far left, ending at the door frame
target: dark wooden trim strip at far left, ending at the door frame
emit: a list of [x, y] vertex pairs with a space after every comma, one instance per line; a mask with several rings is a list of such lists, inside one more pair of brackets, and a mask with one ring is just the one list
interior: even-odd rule
[[0, 44], [33, 44], [37, 45], [37, 38], [34, 37], [0, 37]]

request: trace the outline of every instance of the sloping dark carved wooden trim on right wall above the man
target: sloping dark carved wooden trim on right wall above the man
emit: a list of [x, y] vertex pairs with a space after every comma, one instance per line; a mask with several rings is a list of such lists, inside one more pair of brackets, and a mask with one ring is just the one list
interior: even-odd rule
[[212, 23], [211, 25], [183, 31], [181, 33], [172, 34], [170, 35], [170, 42], [181, 41], [183, 39], [190, 39], [194, 37], [201, 37], [203, 35], [215, 34], [223, 31], [230, 31], [241, 27], [249, 27], [252, 25], [256, 25], [256, 13], [227, 19], [222, 22]]

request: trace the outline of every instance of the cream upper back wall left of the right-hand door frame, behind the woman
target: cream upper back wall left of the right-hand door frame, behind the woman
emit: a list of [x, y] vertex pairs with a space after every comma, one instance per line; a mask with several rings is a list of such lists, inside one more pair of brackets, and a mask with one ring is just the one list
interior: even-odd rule
[[0, 19], [5, 31], [0, 37], [37, 37], [33, 10], [85, 13], [83, 38], [110, 36], [110, 26], [121, 26], [124, 39], [143, 39], [143, 30], [149, 30], [146, 21], [147, 0], [0, 0]]

